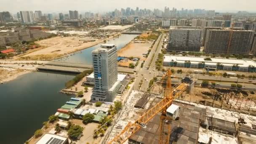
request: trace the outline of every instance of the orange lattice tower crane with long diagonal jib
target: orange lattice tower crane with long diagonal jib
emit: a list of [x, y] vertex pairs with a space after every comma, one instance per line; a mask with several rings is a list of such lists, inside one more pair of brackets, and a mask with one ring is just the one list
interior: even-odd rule
[[177, 96], [180, 96], [181, 93], [183, 93], [186, 90], [186, 88], [187, 88], [187, 84], [186, 83], [181, 83], [175, 89], [172, 89], [172, 86], [171, 86], [171, 75], [172, 75], [171, 69], [168, 69], [166, 74], [163, 75], [163, 77], [161, 79], [162, 81], [166, 79], [166, 87], [165, 87], [165, 91], [164, 91], [164, 98], [162, 99], [162, 101], [160, 101], [154, 107], [152, 107], [147, 112], [145, 112], [134, 123], [129, 122], [125, 126], [124, 130], [121, 131], [121, 133], [119, 133], [117, 136], [115, 136], [114, 139], [110, 140], [108, 142], [108, 144], [112, 144], [112, 143], [120, 143], [120, 144], [122, 144], [129, 137], [131, 137], [133, 135], [133, 133], [135, 133], [141, 127], [146, 125], [149, 122], [149, 120], [151, 120], [155, 115], [157, 115], [158, 112], [162, 112], [163, 114], [166, 115], [166, 110], [172, 104], [173, 99], [175, 99]]

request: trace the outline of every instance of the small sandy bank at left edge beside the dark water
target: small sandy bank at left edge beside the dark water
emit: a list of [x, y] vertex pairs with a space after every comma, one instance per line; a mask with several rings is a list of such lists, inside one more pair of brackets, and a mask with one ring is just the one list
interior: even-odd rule
[[12, 69], [12, 68], [1, 68], [0, 67], [0, 82], [8, 82], [16, 79], [20, 75], [24, 75], [31, 72], [26, 69]]

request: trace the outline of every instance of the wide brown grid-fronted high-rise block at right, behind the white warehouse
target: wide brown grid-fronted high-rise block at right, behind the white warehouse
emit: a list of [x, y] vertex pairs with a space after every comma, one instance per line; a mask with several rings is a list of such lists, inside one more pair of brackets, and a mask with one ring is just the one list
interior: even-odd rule
[[233, 30], [231, 35], [231, 31], [231, 29], [209, 29], [205, 37], [205, 53], [248, 54], [254, 32]]

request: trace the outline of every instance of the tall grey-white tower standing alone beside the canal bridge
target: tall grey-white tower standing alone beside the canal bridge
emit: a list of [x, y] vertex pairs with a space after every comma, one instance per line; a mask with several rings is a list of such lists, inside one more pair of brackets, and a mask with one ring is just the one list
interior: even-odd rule
[[[114, 44], [103, 44], [92, 51], [95, 86], [92, 100], [113, 101], [117, 95], [117, 48]], [[118, 89], [117, 89], [118, 90]]]

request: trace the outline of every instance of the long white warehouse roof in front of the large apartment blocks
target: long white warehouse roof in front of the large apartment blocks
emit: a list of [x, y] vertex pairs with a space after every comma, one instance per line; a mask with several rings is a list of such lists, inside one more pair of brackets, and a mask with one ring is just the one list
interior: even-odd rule
[[253, 60], [245, 60], [245, 59], [216, 59], [211, 58], [211, 61], [205, 61], [205, 58], [202, 57], [189, 57], [189, 56], [172, 56], [172, 55], [165, 55], [164, 62], [171, 62], [176, 61], [180, 63], [184, 63], [185, 61], [190, 61], [191, 64], [198, 64], [199, 62], [205, 62], [207, 65], [216, 65], [218, 62], [226, 65], [226, 66], [233, 66], [233, 64], [238, 64], [239, 67], [249, 67], [249, 65], [256, 67], [256, 62]]

